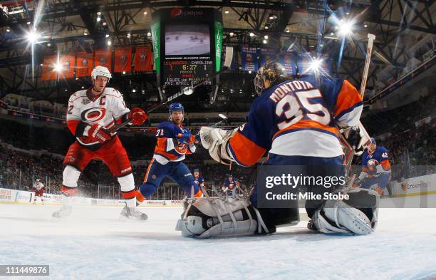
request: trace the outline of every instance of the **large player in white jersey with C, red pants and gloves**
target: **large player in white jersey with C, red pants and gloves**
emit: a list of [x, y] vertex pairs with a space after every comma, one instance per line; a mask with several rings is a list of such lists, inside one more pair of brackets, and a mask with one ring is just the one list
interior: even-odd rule
[[110, 172], [118, 179], [126, 206], [122, 217], [147, 219], [147, 215], [136, 209], [136, 190], [132, 167], [125, 148], [116, 133], [110, 130], [117, 123], [131, 120], [132, 125], [142, 125], [147, 114], [141, 108], [129, 110], [123, 95], [115, 88], [108, 88], [108, 68], [96, 66], [91, 73], [93, 86], [79, 90], [68, 100], [67, 125], [76, 136], [63, 160], [64, 194], [63, 206], [53, 217], [65, 217], [71, 213], [72, 197], [77, 194], [77, 182], [88, 163], [98, 158], [103, 160]]

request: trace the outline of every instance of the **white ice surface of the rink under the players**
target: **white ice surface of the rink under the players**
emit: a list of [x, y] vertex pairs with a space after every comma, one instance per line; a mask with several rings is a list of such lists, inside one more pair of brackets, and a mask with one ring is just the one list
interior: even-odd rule
[[436, 279], [436, 209], [380, 209], [378, 229], [363, 237], [313, 233], [304, 221], [208, 240], [175, 232], [180, 207], [142, 207], [147, 222], [120, 222], [120, 207], [75, 207], [53, 222], [56, 209], [0, 204], [0, 264], [49, 264], [41, 280]]

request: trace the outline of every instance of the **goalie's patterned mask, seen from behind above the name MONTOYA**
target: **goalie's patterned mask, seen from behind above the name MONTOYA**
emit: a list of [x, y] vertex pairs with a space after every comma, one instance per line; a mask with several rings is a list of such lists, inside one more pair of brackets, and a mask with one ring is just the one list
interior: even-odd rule
[[286, 69], [280, 63], [266, 63], [264, 67], [259, 68], [254, 77], [254, 89], [258, 95], [261, 95], [271, 85], [285, 81], [286, 76]]

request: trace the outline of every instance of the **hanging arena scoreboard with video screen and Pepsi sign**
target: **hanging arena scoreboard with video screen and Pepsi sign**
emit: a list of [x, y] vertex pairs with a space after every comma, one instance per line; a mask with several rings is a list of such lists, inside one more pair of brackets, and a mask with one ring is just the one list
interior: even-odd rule
[[[221, 68], [222, 14], [215, 9], [160, 9], [152, 14], [157, 84], [197, 85]], [[204, 85], [214, 85], [214, 79]]]

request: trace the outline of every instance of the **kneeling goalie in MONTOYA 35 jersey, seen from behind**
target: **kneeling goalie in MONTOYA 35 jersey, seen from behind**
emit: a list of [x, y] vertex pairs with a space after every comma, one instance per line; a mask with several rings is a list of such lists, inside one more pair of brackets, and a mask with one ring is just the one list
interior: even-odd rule
[[[363, 100], [346, 80], [313, 76], [289, 78], [279, 63], [266, 63], [254, 78], [259, 97], [249, 110], [248, 122], [234, 130], [202, 127], [201, 142], [217, 162], [251, 166], [265, 152], [264, 165], [299, 165], [306, 175], [328, 175], [328, 167], [343, 167], [343, 149], [338, 128], [356, 127]], [[352, 129], [353, 130], [353, 129]], [[357, 129], [355, 135], [360, 135]], [[343, 139], [342, 139], [343, 140]], [[355, 142], [361, 146], [362, 140]], [[312, 168], [316, 166], [318, 168]], [[286, 208], [258, 205], [257, 184], [249, 197], [204, 197], [185, 204], [177, 230], [186, 237], [232, 237], [270, 234], [276, 227], [299, 222], [296, 201]], [[308, 192], [344, 190], [343, 185]], [[349, 199], [307, 199], [308, 228], [326, 234], [369, 234], [377, 224], [377, 192], [347, 190]]]

